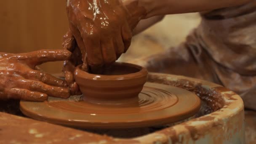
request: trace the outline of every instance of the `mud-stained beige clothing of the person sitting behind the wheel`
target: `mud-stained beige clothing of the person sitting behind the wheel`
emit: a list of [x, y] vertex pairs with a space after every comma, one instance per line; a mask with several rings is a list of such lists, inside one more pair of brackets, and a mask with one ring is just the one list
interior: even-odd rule
[[146, 67], [224, 85], [256, 110], [256, 0], [201, 16], [185, 43], [151, 56]]

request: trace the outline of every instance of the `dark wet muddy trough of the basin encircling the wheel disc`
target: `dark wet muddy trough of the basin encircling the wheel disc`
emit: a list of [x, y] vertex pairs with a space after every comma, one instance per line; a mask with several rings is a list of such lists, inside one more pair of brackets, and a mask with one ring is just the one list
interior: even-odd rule
[[[172, 85], [179, 88], [184, 88], [188, 91], [191, 91], [201, 99], [201, 108], [197, 112], [196, 115], [193, 117], [190, 117], [186, 120], [182, 120], [177, 123], [171, 123], [169, 125], [161, 125], [157, 127], [147, 127], [147, 128], [131, 128], [131, 129], [120, 129], [120, 130], [113, 130], [113, 129], [104, 129], [104, 130], [96, 130], [96, 129], [81, 129], [81, 128], [75, 128], [82, 131], [88, 131], [92, 133], [97, 133], [101, 135], [108, 135], [113, 136], [117, 138], [133, 138], [137, 136], [143, 136], [149, 133], [153, 133], [155, 131], [160, 131], [164, 128], [182, 123], [187, 120], [194, 119], [196, 117], [200, 117], [203, 115], [207, 115], [209, 113], [212, 113], [214, 111], [217, 111], [221, 109], [224, 106], [224, 101], [221, 98], [219, 93], [216, 93], [214, 91], [207, 90], [203, 88], [200, 84], [195, 85], [192, 82], [189, 82], [187, 80], [181, 80], [179, 82], [169, 82], [167, 80], [158, 79], [157, 77], [149, 77], [150, 82], [155, 83], [162, 83], [166, 85]], [[79, 101], [79, 99], [77, 99]], [[7, 112], [14, 115], [24, 116], [21, 111], [19, 110], [19, 101], [16, 100], [8, 100], [8, 101], [0, 101], [0, 111], [1, 112]]]

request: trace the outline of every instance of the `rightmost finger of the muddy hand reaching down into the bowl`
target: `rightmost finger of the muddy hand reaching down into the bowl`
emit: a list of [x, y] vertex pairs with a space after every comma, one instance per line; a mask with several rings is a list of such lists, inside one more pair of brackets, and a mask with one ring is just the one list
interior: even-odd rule
[[125, 53], [131, 45], [131, 38], [132, 38], [131, 28], [127, 23], [125, 23], [122, 27], [122, 37], [123, 37], [123, 43], [125, 47], [124, 49], [124, 53]]

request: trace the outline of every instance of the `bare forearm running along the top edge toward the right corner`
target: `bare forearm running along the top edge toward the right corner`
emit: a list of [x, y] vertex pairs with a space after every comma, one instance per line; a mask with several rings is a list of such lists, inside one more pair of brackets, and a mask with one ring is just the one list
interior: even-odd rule
[[125, 5], [138, 3], [147, 11], [144, 19], [152, 16], [209, 11], [248, 3], [251, 0], [123, 0]]

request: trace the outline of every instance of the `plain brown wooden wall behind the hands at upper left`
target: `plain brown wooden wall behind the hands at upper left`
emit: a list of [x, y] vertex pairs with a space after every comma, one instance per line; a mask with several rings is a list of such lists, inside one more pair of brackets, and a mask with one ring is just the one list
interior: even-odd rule
[[[61, 49], [68, 29], [65, 0], [0, 0], [0, 52]], [[61, 72], [62, 63], [43, 64]]]

